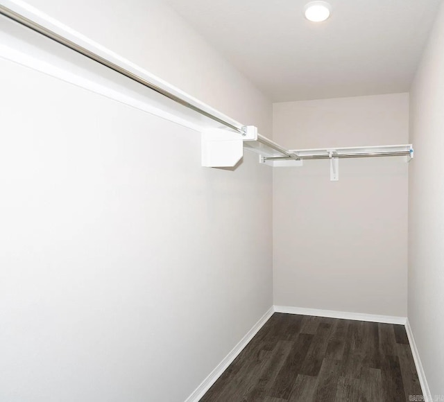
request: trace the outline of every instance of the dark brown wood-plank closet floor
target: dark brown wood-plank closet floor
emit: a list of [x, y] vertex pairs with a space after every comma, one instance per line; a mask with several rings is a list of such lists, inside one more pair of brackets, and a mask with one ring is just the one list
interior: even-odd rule
[[275, 313], [200, 402], [404, 402], [409, 395], [422, 392], [404, 326]]

